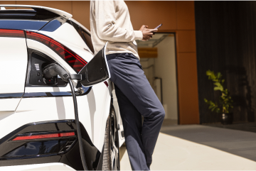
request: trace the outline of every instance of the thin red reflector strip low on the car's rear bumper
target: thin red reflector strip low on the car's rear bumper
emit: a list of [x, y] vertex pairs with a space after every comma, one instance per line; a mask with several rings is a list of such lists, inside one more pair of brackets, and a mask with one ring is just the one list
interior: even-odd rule
[[75, 132], [71, 132], [71, 133], [49, 133], [49, 134], [31, 135], [31, 136], [17, 136], [13, 140], [36, 140], [36, 139], [58, 138], [58, 137], [68, 137], [68, 136], [75, 136]]

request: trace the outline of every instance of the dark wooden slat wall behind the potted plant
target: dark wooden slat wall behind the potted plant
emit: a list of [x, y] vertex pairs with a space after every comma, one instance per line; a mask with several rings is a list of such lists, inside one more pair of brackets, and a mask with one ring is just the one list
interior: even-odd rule
[[195, 0], [201, 123], [220, 121], [203, 98], [218, 101], [206, 70], [222, 72], [234, 100], [234, 121], [256, 118], [256, 1]]

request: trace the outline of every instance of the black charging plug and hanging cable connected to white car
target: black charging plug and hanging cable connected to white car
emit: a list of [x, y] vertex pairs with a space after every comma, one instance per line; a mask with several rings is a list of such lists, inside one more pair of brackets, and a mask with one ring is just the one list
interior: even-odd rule
[[79, 118], [78, 118], [78, 103], [77, 103], [77, 99], [75, 96], [74, 85], [71, 80], [71, 79], [81, 80], [82, 75], [70, 75], [63, 67], [60, 67], [60, 65], [58, 65], [56, 63], [51, 63], [43, 68], [43, 77], [45, 77], [46, 79], [52, 79], [53, 77], [57, 77], [58, 75], [60, 76], [61, 79], [63, 79], [63, 81], [68, 82], [70, 84], [71, 94], [73, 96], [73, 104], [74, 104], [74, 111], [75, 111], [75, 124], [77, 126], [78, 143], [79, 143], [79, 148], [80, 148], [82, 166], [85, 171], [89, 171], [87, 168], [87, 165], [86, 165], [85, 152], [83, 150], [83, 145], [82, 145], [82, 134], [81, 134], [80, 122], [79, 122]]

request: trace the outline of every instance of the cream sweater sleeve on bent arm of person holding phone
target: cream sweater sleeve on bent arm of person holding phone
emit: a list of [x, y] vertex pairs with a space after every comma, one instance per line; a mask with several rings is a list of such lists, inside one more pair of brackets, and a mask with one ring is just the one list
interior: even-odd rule
[[97, 35], [112, 42], [142, 40], [142, 31], [127, 30], [115, 23], [116, 0], [95, 0], [95, 22]]

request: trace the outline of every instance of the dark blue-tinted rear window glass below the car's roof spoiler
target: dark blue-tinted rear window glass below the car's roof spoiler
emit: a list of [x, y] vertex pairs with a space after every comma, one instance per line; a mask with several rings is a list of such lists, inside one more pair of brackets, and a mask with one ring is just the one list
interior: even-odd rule
[[28, 29], [38, 31], [48, 21], [26, 21], [26, 20], [0, 20], [0, 28]]

